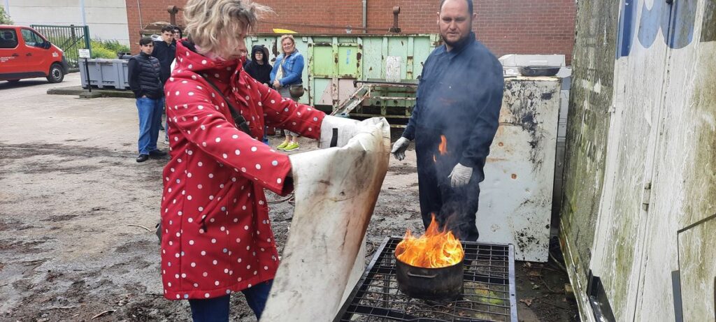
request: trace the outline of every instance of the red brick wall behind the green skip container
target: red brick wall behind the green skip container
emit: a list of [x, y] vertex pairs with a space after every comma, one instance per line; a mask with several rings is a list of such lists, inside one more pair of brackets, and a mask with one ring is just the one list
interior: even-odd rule
[[[575, 0], [473, 0], [478, 19], [473, 30], [496, 56], [503, 54], [565, 54], [571, 62], [574, 45]], [[259, 0], [276, 15], [259, 24], [258, 31], [272, 28], [304, 33], [344, 33], [344, 29], [319, 29], [289, 24], [362, 26], [362, 0]], [[440, 0], [367, 0], [367, 26], [371, 33], [387, 32], [392, 26], [392, 7], [400, 6], [399, 25], [405, 33], [437, 33]], [[140, 0], [142, 23], [169, 21], [167, 6], [183, 6], [185, 0]], [[136, 0], [127, 0], [132, 52], [139, 42], [139, 11]], [[178, 23], [182, 23], [181, 14]], [[360, 31], [353, 30], [358, 33]]]

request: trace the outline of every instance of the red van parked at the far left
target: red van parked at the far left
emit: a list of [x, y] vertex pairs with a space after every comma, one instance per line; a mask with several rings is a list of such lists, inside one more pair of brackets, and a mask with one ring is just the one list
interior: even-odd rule
[[62, 49], [35, 29], [0, 24], [0, 81], [47, 77], [48, 82], [59, 83], [68, 69]]

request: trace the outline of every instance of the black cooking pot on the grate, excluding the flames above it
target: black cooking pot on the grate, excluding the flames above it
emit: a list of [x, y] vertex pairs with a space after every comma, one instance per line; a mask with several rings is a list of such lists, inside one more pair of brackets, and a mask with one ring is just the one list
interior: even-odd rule
[[421, 268], [395, 258], [398, 289], [412, 298], [455, 301], [463, 294], [463, 260], [442, 268]]

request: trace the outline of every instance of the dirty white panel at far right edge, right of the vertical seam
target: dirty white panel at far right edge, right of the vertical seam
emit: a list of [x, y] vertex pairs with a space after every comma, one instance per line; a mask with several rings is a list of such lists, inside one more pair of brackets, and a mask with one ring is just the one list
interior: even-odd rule
[[676, 233], [716, 213], [716, 2], [682, 1], [672, 15], [636, 320], [674, 315], [670, 274], [679, 269], [683, 321], [716, 321], [716, 225]]

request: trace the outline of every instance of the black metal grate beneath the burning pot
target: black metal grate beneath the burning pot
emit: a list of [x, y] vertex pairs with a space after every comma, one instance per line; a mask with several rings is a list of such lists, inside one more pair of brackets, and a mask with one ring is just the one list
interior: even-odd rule
[[437, 303], [398, 291], [395, 246], [401, 239], [386, 238], [334, 322], [517, 321], [513, 245], [463, 242], [463, 296]]

